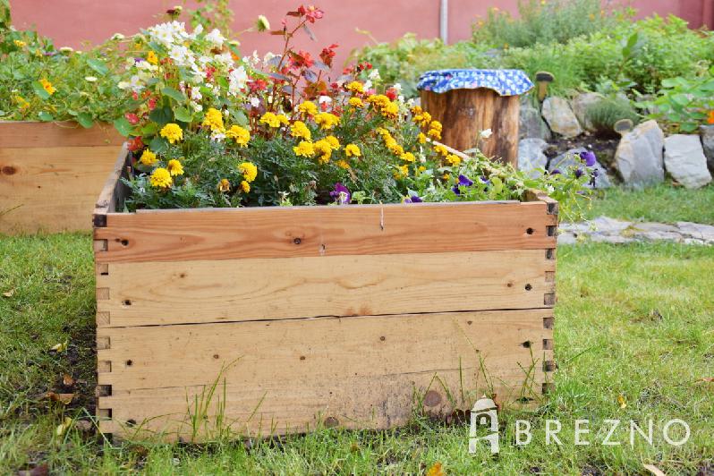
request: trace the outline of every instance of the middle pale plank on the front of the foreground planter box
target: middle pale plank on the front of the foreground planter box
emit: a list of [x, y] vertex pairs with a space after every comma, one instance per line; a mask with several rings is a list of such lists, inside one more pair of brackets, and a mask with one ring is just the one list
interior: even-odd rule
[[548, 307], [544, 250], [110, 263], [112, 327]]

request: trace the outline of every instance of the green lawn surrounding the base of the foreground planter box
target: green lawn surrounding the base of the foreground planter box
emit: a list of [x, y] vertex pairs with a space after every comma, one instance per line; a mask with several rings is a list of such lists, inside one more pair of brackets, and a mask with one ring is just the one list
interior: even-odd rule
[[[499, 415], [497, 458], [486, 446], [468, 453], [466, 423], [420, 417], [405, 429], [322, 430], [250, 448], [231, 441], [110, 446], [80, 423], [93, 412], [95, 382], [89, 235], [4, 237], [0, 257], [0, 474], [41, 464], [56, 473], [155, 474], [422, 473], [437, 462], [453, 474], [645, 473], [648, 463], [667, 474], [714, 469], [714, 383], [702, 380], [714, 377], [714, 248], [559, 248], [556, 390], [535, 412]], [[66, 351], [50, 352], [64, 342]], [[65, 373], [73, 386], [64, 386]], [[75, 398], [65, 406], [47, 391]], [[65, 417], [74, 424], [58, 435]], [[530, 446], [511, 443], [516, 418], [531, 422]], [[652, 446], [638, 437], [631, 447], [628, 426], [611, 438], [620, 445], [602, 444], [605, 419], [645, 425], [650, 418]], [[662, 438], [672, 418], [692, 429], [683, 446]], [[548, 419], [561, 421], [562, 446], [545, 444]], [[574, 446], [578, 419], [591, 421], [589, 446]]]

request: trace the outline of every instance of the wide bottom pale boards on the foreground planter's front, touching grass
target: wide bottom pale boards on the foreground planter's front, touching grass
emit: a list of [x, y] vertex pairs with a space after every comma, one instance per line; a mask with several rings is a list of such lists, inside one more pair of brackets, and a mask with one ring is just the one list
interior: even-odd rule
[[194, 396], [216, 381], [208, 422], [225, 382], [225, 421], [263, 434], [326, 420], [346, 428], [401, 425], [415, 393], [442, 416], [494, 391], [501, 403], [537, 398], [543, 361], [552, 360], [540, 344], [552, 338], [546, 317], [551, 310], [100, 329], [110, 346], [98, 360], [111, 363], [98, 382], [111, 395], [99, 398], [99, 408], [115, 420], [101, 429], [122, 433], [122, 422], [152, 419], [145, 428], [176, 431]]

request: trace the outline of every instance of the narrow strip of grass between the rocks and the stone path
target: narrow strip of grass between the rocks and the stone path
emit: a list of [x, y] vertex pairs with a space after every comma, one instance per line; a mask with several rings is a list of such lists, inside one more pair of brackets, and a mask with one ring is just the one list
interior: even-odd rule
[[675, 223], [677, 221], [714, 225], [714, 184], [686, 190], [662, 184], [642, 191], [613, 187], [592, 200], [588, 218], [601, 215], [624, 220]]

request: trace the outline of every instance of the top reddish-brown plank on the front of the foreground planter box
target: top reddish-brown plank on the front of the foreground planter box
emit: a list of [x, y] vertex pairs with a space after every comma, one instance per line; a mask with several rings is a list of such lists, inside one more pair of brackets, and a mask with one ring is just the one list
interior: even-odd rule
[[101, 262], [554, 248], [540, 201], [203, 208], [108, 214]]

